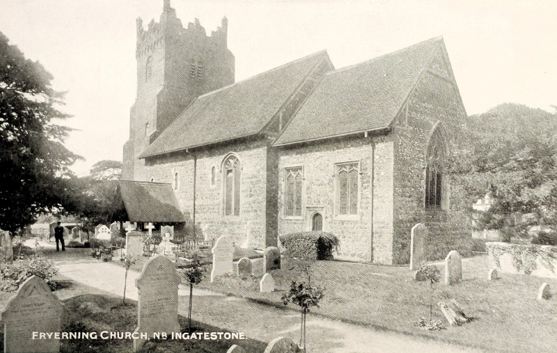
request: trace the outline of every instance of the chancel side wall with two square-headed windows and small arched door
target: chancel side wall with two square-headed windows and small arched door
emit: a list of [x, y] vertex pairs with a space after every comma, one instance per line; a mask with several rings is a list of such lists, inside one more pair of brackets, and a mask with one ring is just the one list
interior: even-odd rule
[[[374, 143], [377, 153], [374, 161]], [[284, 147], [278, 161], [278, 236], [311, 230], [311, 215], [323, 216], [323, 231], [340, 239], [340, 258], [390, 262], [392, 248], [393, 155], [389, 138], [342, 138], [296, 147]], [[359, 202], [357, 215], [338, 215], [336, 208], [336, 164], [359, 162]], [[375, 164], [375, 172], [374, 172]], [[301, 217], [284, 212], [285, 168], [303, 168]], [[375, 199], [372, 201], [372, 180]], [[380, 188], [380, 190], [379, 190]], [[373, 206], [372, 206], [373, 204]], [[375, 227], [372, 229], [372, 207]], [[373, 231], [373, 243], [372, 243]], [[373, 248], [373, 252], [372, 252]]]

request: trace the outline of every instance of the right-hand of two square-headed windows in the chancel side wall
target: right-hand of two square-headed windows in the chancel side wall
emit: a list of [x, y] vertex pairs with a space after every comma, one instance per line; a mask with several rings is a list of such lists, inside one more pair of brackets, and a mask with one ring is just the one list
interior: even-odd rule
[[338, 215], [358, 214], [359, 163], [336, 165], [336, 202]]

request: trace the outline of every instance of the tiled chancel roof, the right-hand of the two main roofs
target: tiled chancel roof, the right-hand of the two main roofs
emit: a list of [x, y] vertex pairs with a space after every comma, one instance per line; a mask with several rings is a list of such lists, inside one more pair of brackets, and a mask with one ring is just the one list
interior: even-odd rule
[[388, 127], [443, 39], [433, 38], [329, 72], [274, 145]]

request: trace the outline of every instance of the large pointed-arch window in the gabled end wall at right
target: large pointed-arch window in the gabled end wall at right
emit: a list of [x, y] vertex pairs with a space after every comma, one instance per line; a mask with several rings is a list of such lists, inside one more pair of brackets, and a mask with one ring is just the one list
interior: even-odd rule
[[446, 181], [444, 180], [446, 144], [439, 126], [434, 130], [425, 154], [425, 208], [445, 208]]

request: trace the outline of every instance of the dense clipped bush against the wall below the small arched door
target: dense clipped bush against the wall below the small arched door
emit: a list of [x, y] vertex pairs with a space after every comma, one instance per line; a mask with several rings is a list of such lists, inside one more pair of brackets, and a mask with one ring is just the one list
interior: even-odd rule
[[281, 236], [285, 255], [306, 260], [328, 260], [333, 258], [333, 249], [338, 249], [340, 241], [336, 236], [324, 231], [305, 231]]

